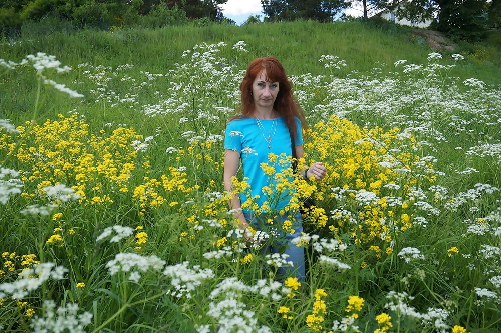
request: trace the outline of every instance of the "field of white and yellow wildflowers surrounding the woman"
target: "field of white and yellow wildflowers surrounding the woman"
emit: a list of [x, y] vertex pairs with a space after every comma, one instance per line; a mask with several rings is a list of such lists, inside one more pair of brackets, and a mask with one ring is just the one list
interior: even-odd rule
[[291, 216], [315, 200], [301, 283], [262, 251], [291, 221], [247, 242], [228, 209], [224, 129], [253, 49], [237, 41], [149, 71], [0, 59], [2, 331], [498, 331], [501, 87], [431, 51], [369, 71], [323, 54], [323, 74], [290, 74], [300, 162], [327, 176], [291, 182], [272, 155], [263, 193], [295, 189]]

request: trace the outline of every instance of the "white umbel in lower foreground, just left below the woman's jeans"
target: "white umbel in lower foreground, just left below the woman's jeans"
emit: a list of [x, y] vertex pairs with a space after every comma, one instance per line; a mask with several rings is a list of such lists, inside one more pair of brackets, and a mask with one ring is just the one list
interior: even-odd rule
[[196, 287], [201, 285], [205, 280], [213, 279], [214, 272], [212, 269], [201, 269], [200, 265], [195, 265], [193, 268], [188, 267], [189, 262], [185, 261], [182, 264], [165, 267], [163, 274], [172, 279], [171, 284], [174, 289], [167, 292], [177, 298], [186, 296], [191, 298], [191, 292]]

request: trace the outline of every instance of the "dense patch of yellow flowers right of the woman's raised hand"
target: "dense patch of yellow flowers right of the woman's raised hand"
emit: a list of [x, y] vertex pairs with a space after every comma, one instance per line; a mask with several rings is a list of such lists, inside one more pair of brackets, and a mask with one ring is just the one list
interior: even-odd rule
[[[371, 192], [380, 198], [360, 205], [355, 193], [345, 192], [344, 203], [353, 207], [354, 215], [335, 213], [337, 228], [349, 231], [355, 243], [368, 244], [391, 242], [389, 223], [382, 221], [392, 221], [397, 234], [412, 226], [414, 215], [409, 209], [415, 199], [409, 196], [410, 191], [418, 181], [422, 186], [436, 179], [433, 165], [411, 153], [418, 147], [412, 135], [397, 127], [386, 132], [380, 127], [368, 130], [335, 116], [319, 122], [305, 134], [309, 137], [304, 144], [306, 164], [322, 161], [327, 169], [326, 177], [314, 182], [314, 199], [319, 206], [339, 207], [340, 199], [333, 188]], [[402, 203], [390, 205], [384, 196], [399, 197]], [[350, 219], [356, 223], [347, 223]], [[325, 223], [319, 221], [317, 225], [323, 227]]]

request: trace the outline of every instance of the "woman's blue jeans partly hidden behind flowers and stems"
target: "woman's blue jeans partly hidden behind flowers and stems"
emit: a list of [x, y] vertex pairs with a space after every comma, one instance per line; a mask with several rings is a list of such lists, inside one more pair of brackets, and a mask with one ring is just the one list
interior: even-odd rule
[[[255, 229], [260, 230], [259, 224], [258, 224], [258, 219], [259, 221], [264, 221], [266, 214], [254, 214], [254, 213], [243, 213], [245, 216], [245, 220], [247, 223], [252, 226]], [[265, 251], [270, 252], [270, 253], [278, 253], [278, 248], [285, 246], [285, 254], [288, 254], [289, 257], [286, 259], [287, 261], [292, 261], [294, 264], [294, 267], [279, 267], [278, 269], [278, 274], [279, 275], [291, 275], [292, 272], [294, 272], [296, 278], [300, 282], [305, 281], [305, 248], [304, 247], [298, 247], [296, 244], [293, 244], [291, 241], [296, 238], [300, 237], [301, 233], [303, 232], [303, 225], [302, 225], [302, 218], [301, 218], [301, 213], [296, 213], [294, 216], [295, 221], [293, 221], [292, 224], [292, 229], [294, 229], [294, 233], [286, 233], [284, 231], [280, 231], [280, 237], [282, 240], [276, 241], [274, 245], [269, 247], [268, 249], [265, 249]], [[287, 220], [287, 215], [285, 216], [278, 216], [276, 219], [274, 219], [274, 225], [277, 226], [282, 226], [283, 221]], [[269, 225], [266, 222], [263, 222], [265, 225]], [[280, 227], [279, 227], [280, 228]], [[283, 238], [285, 237], [285, 240]], [[275, 246], [276, 245], [276, 246]]]

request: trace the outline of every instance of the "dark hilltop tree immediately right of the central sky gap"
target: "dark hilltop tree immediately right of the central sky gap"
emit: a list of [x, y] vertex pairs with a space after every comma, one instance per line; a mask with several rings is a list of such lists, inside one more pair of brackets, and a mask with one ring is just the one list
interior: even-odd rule
[[261, 0], [269, 21], [317, 20], [332, 22], [349, 3], [345, 0]]

